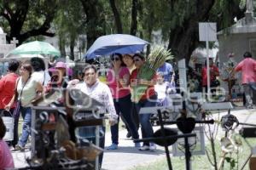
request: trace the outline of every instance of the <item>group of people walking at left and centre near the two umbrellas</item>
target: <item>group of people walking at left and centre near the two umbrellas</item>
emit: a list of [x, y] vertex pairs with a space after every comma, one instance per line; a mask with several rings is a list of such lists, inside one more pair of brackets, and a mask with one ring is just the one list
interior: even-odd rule
[[[34, 57], [20, 64], [18, 60], [10, 60], [8, 73], [0, 80], [0, 109], [3, 116], [7, 112], [14, 117], [14, 139], [8, 141], [9, 148], [14, 150], [25, 150], [26, 143], [31, 134], [32, 126], [32, 103], [42, 95], [49, 93], [55, 88], [77, 88], [92, 99], [96, 99], [103, 104], [102, 111], [108, 111], [110, 114], [109, 124], [111, 130], [112, 144], [107, 147], [108, 150], [119, 149], [119, 117], [125, 122], [127, 128], [127, 137], [139, 139], [138, 129], [141, 126], [143, 138], [153, 136], [153, 127], [149, 121], [150, 113], [139, 115], [143, 107], [154, 106], [157, 101], [157, 94], [154, 86], [157, 84], [157, 75], [165, 77], [172, 71], [172, 65], [165, 66], [158, 72], [154, 81], [141, 81], [137, 78], [137, 71], [144, 64], [145, 56], [143, 54], [112, 54], [110, 56], [111, 67], [108, 69], [107, 82], [101, 82], [97, 77], [97, 69], [94, 65], [87, 65], [84, 68], [83, 80], [72, 79], [72, 73], [64, 62], [57, 62], [54, 67], [45, 70], [44, 59]], [[170, 75], [168, 76], [170, 77]], [[172, 75], [173, 77], [173, 75]], [[137, 80], [137, 83], [131, 83]], [[172, 87], [174, 83], [172, 78], [168, 80]], [[134, 82], [134, 81], [133, 81]], [[148, 89], [143, 94], [138, 103], [132, 101], [131, 87], [137, 84], [144, 84]], [[57, 99], [58, 103], [65, 105], [65, 100]], [[20, 115], [23, 119], [22, 132], [18, 134]], [[102, 127], [102, 132], [105, 132]], [[95, 136], [95, 127], [80, 127], [79, 135], [82, 138]], [[2, 138], [3, 139], [3, 138]], [[95, 142], [95, 139], [92, 140]], [[4, 143], [4, 142], [3, 142]], [[104, 139], [102, 138], [101, 147], [104, 148]], [[4, 145], [3, 145], [4, 146]], [[155, 150], [154, 143], [144, 142], [141, 145], [135, 142], [134, 146], [139, 150]], [[1, 156], [0, 156], [1, 157]], [[11, 157], [11, 155], [9, 156]], [[102, 162], [102, 159], [100, 159]]]

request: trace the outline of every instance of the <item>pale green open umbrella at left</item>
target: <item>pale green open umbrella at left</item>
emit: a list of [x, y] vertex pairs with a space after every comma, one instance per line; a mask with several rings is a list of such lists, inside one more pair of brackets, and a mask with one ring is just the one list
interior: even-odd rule
[[48, 42], [27, 42], [10, 51], [9, 54], [51, 54], [61, 56], [59, 50]]

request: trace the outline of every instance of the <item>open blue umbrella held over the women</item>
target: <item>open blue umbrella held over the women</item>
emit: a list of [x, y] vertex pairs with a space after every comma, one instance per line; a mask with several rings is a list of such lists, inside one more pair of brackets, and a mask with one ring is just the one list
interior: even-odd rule
[[108, 36], [98, 37], [92, 46], [84, 54], [86, 59], [93, 59], [99, 55], [108, 54], [135, 54], [143, 51], [148, 42], [143, 39], [128, 34], [111, 34]]

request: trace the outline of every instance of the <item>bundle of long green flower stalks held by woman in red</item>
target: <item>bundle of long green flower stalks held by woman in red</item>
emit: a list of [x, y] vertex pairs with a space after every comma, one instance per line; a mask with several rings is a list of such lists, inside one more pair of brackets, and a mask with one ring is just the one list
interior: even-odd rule
[[[166, 62], [166, 59], [172, 59], [173, 56], [170, 50], [163, 47], [155, 47], [145, 59], [145, 63], [137, 73], [137, 80], [151, 81], [157, 69]], [[132, 99], [138, 102], [145, 93], [148, 85], [137, 83], [137, 86], [132, 88]]]

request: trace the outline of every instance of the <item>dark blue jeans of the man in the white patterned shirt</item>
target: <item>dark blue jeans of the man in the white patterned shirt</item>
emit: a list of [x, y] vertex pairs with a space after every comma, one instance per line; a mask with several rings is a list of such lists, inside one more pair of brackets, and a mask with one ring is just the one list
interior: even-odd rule
[[[81, 145], [86, 144], [83, 139], [89, 140], [91, 143], [96, 144], [96, 126], [78, 127], [79, 128], [79, 142]], [[105, 146], [105, 127], [100, 127], [100, 147], [104, 149]], [[103, 152], [99, 156], [99, 169], [102, 167]]]

